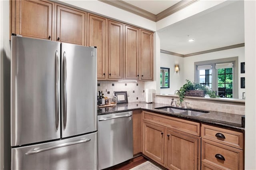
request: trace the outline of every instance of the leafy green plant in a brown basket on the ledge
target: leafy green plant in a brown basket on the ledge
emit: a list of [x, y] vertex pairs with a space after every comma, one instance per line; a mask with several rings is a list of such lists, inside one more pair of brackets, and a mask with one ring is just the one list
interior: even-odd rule
[[180, 97], [180, 103], [183, 102], [185, 96], [194, 96], [194, 97], [204, 97], [206, 94], [211, 98], [219, 97], [215, 94], [215, 91], [211, 91], [205, 85], [199, 83], [192, 83], [189, 80], [186, 80], [187, 83], [180, 87], [180, 91], [176, 93]]

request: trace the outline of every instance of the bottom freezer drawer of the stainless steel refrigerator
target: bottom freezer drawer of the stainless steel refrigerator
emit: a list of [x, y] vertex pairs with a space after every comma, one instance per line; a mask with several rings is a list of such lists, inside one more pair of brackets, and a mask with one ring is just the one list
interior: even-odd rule
[[97, 132], [12, 148], [12, 170], [97, 170]]

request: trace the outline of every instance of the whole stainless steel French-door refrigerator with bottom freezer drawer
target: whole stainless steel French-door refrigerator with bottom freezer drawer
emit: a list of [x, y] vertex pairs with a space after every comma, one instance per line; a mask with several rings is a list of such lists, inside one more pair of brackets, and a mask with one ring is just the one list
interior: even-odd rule
[[98, 168], [96, 48], [12, 36], [12, 169]]

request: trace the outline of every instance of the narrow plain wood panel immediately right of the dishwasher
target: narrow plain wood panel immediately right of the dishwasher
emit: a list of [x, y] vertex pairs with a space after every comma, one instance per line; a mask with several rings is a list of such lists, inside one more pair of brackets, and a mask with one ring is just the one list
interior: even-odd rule
[[133, 154], [142, 152], [142, 111], [132, 111]]

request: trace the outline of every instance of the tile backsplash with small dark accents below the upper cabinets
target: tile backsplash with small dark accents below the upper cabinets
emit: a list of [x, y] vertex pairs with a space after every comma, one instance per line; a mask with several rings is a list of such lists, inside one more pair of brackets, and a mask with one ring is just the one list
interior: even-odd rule
[[127, 91], [128, 102], [145, 101], [144, 81], [119, 82], [98, 81], [97, 90], [102, 91], [105, 97], [112, 98], [114, 91]]

